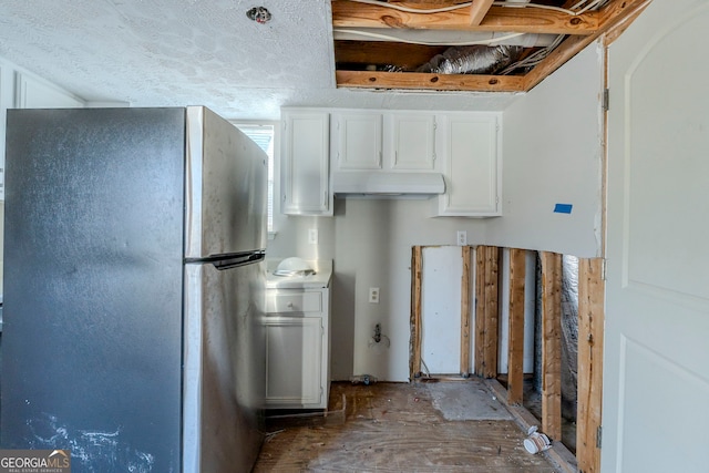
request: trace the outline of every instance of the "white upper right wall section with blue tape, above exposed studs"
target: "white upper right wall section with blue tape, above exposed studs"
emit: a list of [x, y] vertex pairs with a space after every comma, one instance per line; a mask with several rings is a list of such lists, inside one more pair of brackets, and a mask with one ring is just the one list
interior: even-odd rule
[[489, 222], [490, 245], [600, 256], [602, 93], [594, 43], [504, 111], [504, 217]]

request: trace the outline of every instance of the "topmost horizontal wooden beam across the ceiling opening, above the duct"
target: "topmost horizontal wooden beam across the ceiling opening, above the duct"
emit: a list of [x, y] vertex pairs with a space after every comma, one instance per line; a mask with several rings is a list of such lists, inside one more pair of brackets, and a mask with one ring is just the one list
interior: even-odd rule
[[597, 11], [574, 17], [537, 8], [491, 7], [480, 24], [471, 24], [471, 9], [410, 13], [349, 0], [332, 0], [331, 6], [333, 28], [409, 28], [588, 35], [594, 34], [600, 24], [600, 13]]

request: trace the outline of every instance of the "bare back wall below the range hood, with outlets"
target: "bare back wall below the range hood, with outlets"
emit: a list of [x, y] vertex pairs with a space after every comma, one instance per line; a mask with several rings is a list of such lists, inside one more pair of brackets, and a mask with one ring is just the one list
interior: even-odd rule
[[[269, 241], [269, 257], [298, 255], [335, 260], [332, 282], [331, 373], [336, 380], [373, 374], [409, 380], [411, 248], [455, 245], [456, 230], [481, 241], [484, 220], [430, 218], [429, 200], [337, 199], [335, 217], [287, 217]], [[319, 245], [308, 244], [308, 228], [319, 228]], [[380, 302], [370, 304], [370, 287]], [[369, 347], [374, 326], [389, 337], [387, 350]]]

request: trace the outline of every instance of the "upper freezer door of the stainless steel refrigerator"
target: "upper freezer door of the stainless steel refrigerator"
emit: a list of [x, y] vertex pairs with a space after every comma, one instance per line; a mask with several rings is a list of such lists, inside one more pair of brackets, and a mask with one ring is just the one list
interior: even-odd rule
[[187, 107], [186, 258], [266, 248], [267, 166], [232, 123]]

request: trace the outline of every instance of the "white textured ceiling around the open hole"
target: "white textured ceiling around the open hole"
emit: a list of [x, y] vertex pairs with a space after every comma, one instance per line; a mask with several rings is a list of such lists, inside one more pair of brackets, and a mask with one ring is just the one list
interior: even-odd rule
[[0, 2], [0, 58], [89, 101], [207, 105], [277, 120], [280, 106], [501, 110], [511, 94], [336, 89], [328, 0]]

